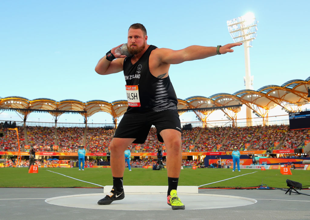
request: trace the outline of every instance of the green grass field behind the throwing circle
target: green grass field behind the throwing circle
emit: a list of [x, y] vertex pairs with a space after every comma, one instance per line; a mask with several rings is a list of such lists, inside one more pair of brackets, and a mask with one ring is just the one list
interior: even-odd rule
[[[39, 168], [38, 173], [28, 173], [28, 168], [0, 168], [0, 187], [99, 187], [47, 170], [102, 186], [113, 185], [110, 168], [85, 168], [85, 171], [78, 171], [78, 168]], [[255, 171], [257, 172], [252, 173]], [[246, 173], [252, 174], [236, 177]], [[202, 187], [250, 187], [265, 184], [270, 187], [288, 188], [286, 179], [301, 182], [303, 186], [310, 185], [308, 170], [292, 170], [292, 175], [282, 175], [280, 170], [242, 169], [241, 172], [232, 172], [231, 169], [185, 168], [181, 170], [179, 186], [200, 186], [231, 177], [236, 178]], [[166, 186], [167, 171], [132, 168], [130, 172], [126, 168], [124, 185]]]

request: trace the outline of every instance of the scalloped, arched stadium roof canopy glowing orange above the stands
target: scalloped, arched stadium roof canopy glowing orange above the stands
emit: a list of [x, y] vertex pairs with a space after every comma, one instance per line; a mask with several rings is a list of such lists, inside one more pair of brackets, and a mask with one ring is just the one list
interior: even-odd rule
[[[229, 108], [228, 106], [242, 105], [258, 106], [264, 110], [269, 110], [277, 105], [282, 106], [288, 111], [294, 111], [287, 106], [302, 106], [309, 102], [308, 87], [310, 87], [310, 77], [306, 80], [294, 79], [281, 86], [268, 85], [259, 88], [257, 91], [244, 89], [233, 94], [217, 93], [210, 97], [193, 96], [184, 100], [178, 99], [178, 110], [201, 109], [225, 107], [234, 112], [240, 109]], [[79, 100], [66, 99], [55, 101], [49, 98], [38, 98], [29, 100], [24, 97], [11, 96], [0, 98], [0, 109], [16, 110], [20, 114], [27, 115], [32, 111], [41, 110], [49, 112], [54, 116], [59, 116], [64, 112], [72, 112], [90, 117], [97, 112], [107, 112], [113, 118], [120, 117], [126, 112], [128, 107], [126, 100], [117, 100], [113, 102], [103, 100], [91, 100], [82, 102]], [[205, 114], [212, 110], [206, 110]], [[202, 112], [200, 110], [200, 112]]]

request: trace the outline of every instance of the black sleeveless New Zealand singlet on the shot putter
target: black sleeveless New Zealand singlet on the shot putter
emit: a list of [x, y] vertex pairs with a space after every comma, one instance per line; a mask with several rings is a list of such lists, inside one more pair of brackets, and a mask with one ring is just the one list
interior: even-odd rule
[[138, 85], [140, 107], [128, 106], [126, 113], [145, 111], [177, 110], [178, 99], [169, 76], [159, 79], [149, 70], [148, 60], [151, 52], [157, 47], [149, 45], [148, 49], [135, 63], [126, 57], [123, 63], [126, 85]]

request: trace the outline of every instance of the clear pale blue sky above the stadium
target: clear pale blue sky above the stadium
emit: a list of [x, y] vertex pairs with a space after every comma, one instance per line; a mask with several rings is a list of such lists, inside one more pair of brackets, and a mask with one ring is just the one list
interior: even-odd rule
[[[0, 97], [126, 99], [122, 72], [101, 76], [94, 68], [111, 48], [126, 43], [131, 24], [142, 23], [148, 44], [157, 47], [216, 46], [233, 42], [226, 21], [249, 11], [259, 21], [250, 48], [254, 90], [304, 80], [310, 76], [309, 8], [309, 1], [2, 0]], [[171, 65], [170, 79], [178, 98], [245, 89], [243, 46], [234, 49], [230, 54]], [[8, 114], [0, 114], [0, 120]], [[40, 117], [32, 114], [29, 119]]]

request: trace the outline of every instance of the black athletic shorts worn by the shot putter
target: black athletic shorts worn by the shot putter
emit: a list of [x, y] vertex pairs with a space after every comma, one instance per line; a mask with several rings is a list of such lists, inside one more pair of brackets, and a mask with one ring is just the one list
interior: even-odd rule
[[125, 113], [113, 137], [135, 138], [133, 143], [143, 144], [152, 125], [157, 129], [157, 139], [160, 142], [164, 142], [159, 134], [164, 129], [175, 129], [182, 133], [178, 112], [176, 110], [164, 110], [159, 112]]

